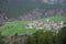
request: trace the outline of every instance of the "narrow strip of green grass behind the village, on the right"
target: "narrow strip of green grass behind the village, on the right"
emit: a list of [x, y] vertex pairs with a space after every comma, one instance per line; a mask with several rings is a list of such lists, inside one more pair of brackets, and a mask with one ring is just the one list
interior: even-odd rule
[[62, 15], [55, 15], [55, 16], [52, 16], [52, 18], [44, 18], [44, 19], [41, 19], [41, 20], [37, 20], [37, 21], [46, 21], [46, 20], [50, 20], [50, 21], [55, 21], [55, 22], [58, 22], [58, 21], [66, 21], [66, 16], [62, 16]]

